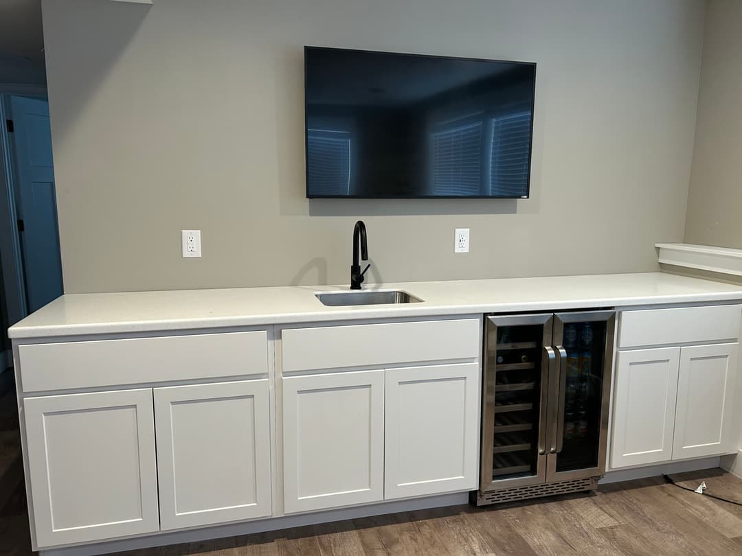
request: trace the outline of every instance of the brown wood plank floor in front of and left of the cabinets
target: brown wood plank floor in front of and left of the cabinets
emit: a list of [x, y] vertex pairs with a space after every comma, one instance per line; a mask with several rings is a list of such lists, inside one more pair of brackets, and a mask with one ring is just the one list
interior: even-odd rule
[[[0, 375], [1, 376], [1, 375]], [[30, 555], [12, 390], [0, 379], [0, 555]], [[679, 474], [707, 494], [742, 500], [742, 480], [719, 469]], [[742, 506], [661, 477], [528, 503], [407, 512], [119, 552], [126, 556], [742, 555]]]

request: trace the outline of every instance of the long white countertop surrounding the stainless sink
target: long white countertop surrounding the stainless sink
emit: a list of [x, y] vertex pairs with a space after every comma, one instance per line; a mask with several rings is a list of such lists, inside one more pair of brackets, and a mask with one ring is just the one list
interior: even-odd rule
[[742, 299], [742, 286], [674, 274], [596, 274], [365, 285], [423, 299], [409, 305], [326, 307], [318, 291], [346, 286], [67, 294], [9, 330], [11, 338], [154, 332], [332, 320], [542, 311]]

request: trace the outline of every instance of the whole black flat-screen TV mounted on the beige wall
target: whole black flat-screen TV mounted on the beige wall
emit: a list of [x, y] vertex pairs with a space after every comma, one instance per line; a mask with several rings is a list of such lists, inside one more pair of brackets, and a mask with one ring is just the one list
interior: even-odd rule
[[536, 64], [304, 47], [306, 196], [528, 198]]

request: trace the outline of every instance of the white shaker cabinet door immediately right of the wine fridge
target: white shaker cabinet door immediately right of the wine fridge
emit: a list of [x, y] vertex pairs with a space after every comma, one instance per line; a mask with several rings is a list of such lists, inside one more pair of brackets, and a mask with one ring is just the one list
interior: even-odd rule
[[620, 351], [611, 468], [672, 459], [680, 348]]

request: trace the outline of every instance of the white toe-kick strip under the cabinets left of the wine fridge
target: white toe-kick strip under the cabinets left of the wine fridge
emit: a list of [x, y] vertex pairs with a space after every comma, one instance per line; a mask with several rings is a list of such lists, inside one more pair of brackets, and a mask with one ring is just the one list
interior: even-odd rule
[[384, 502], [370, 506], [358, 506], [355, 508], [344, 508], [329, 510], [327, 512], [315, 512], [312, 514], [286, 515], [283, 517], [271, 517], [269, 519], [247, 521], [243, 523], [232, 523], [208, 527], [205, 529], [194, 529], [188, 531], [152, 533], [144, 537], [134, 537], [122, 540], [112, 540], [105, 543], [87, 544], [81, 546], [68, 546], [63, 549], [40, 550], [40, 556], [94, 556], [108, 554], [110, 552], [121, 552], [123, 550], [135, 550], [150, 548], [151, 546], [165, 546], [168, 544], [194, 543], [200, 540], [219, 539], [223, 537], [235, 537], [237, 535], [252, 535], [264, 531], [276, 531], [278, 529], [292, 529], [318, 523], [330, 523], [372, 515], [393, 514], [396, 512], [413, 512], [419, 509], [442, 508], [444, 506], [458, 506], [469, 502], [468, 492], [455, 492], [453, 494], [441, 494], [413, 500], [398, 500], [395, 502]]

